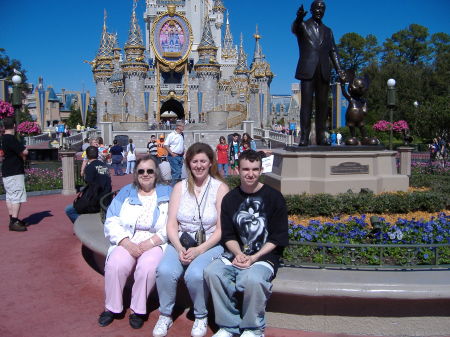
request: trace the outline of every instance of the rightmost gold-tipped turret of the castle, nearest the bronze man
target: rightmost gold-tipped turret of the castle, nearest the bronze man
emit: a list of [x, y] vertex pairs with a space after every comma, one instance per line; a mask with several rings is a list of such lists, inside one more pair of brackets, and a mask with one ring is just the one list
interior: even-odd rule
[[262, 52], [259, 40], [261, 35], [256, 26], [255, 53], [250, 69], [250, 104], [258, 109], [251, 111], [251, 119], [257, 122], [256, 125], [265, 126], [268, 123], [269, 104], [270, 104], [270, 83], [273, 79], [273, 73], [270, 70], [269, 63]]

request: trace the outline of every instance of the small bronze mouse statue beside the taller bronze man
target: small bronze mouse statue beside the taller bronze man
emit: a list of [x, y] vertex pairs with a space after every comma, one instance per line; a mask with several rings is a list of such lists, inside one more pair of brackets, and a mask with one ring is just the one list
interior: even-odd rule
[[354, 73], [348, 73], [347, 77], [349, 79], [348, 92], [345, 89], [345, 85], [343, 85], [342, 94], [348, 100], [345, 121], [350, 129], [351, 138], [347, 139], [345, 144], [359, 145], [360, 142], [356, 138], [356, 128], [359, 128], [361, 144], [377, 145], [379, 143], [378, 139], [367, 137], [364, 124], [364, 118], [367, 115], [367, 102], [363, 96], [369, 88], [369, 80], [368, 78], [355, 78]]

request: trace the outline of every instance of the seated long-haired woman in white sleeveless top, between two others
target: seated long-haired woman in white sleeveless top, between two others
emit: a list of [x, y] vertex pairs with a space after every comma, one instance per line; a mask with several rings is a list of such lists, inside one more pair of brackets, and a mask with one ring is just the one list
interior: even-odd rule
[[169, 203], [167, 236], [171, 244], [156, 271], [161, 315], [154, 337], [166, 336], [172, 325], [177, 283], [183, 274], [194, 307], [191, 336], [206, 334], [209, 294], [203, 270], [223, 252], [220, 206], [228, 186], [221, 180], [214, 151], [208, 144], [195, 143], [187, 150], [185, 163], [188, 178], [175, 185]]

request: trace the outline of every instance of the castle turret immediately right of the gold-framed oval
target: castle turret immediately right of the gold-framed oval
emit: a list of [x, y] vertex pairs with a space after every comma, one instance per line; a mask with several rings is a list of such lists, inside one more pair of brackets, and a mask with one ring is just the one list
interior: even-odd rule
[[217, 62], [217, 47], [211, 33], [209, 20], [205, 17], [203, 35], [198, 45], [198, 62], [194, 70], [199, 78], [199, 118], [205, 121], [205, 113], [212, 111], [216, 105], [218, 82], [220, 78], [220, 64]]

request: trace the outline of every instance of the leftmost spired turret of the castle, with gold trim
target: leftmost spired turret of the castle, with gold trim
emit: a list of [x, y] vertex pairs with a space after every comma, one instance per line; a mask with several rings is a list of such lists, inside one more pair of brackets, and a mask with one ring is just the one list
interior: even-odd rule
[[106, 11], [103, 17], [103, 30], [100, 39], [100, 47], [97, 55], [92, 62], [92, 72], [96, 84], [96, 99], [97, 99], [97, 122], [103, 121], [103, 116], [107, 113], [107, 102], [111, 95], [109, 92], [108, 79], [113, 73], [113, 45], [111, 34], [106, 29]]

